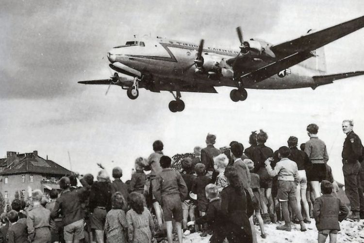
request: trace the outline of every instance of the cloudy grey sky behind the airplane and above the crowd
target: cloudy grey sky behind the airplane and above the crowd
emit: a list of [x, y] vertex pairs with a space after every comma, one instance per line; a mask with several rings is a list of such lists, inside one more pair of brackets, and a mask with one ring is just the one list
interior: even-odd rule
[[[1, 0], [0, 157], [38, 150], [81, 174], [97, 174], [96, 163], [109, 171], [120, 166], [126, 180], [156, 139], [173, 156], [204, 146], [207, 133], [216, 135], [216, 147], [232, 140], [248, 147], [251, 131], [264, 129], [266, 145], [276, 150], [289, 136], [307, 141], [306, 126], [317, 123], [334, 178], [343, 182], [341, 122], [353, 119], [364, 138], [364, 77], [315, 90], [248, 90], [239, 103], [227, 87], [182, 93], [186, 108], [179, 113], [168, 110], [168, 92], [140, 90], [132, 101], [119, 87], [105, 96], [107, 87], [77, 82], [108, 78], [107, 51], [133, 35], [238, 48], [237, 26], [244, 38], [278, 44], [363, 13], [361, 0]], [[328, 73], [364, 70], [363, 38], [364, 29], [325, 46]]]

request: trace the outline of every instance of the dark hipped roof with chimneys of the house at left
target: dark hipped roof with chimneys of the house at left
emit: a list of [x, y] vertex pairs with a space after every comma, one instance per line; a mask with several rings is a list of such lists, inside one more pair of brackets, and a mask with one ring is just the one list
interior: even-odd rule
[[[8, 158], [9, 159], [9, 158]], [[52, 160], [44, 159], [37, 153], [27, 153], [14, 156], [11, 164], [5, 168], [0, 174], [53, 174], [53, 175], [69, 175], [71, 171], [60, 166]]]

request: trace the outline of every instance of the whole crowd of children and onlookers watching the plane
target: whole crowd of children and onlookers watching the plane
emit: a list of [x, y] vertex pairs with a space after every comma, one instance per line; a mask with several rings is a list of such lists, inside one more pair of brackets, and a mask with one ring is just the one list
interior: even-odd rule
[[336, 197], [325, 142], [317, 137], [318, 126], [309, 124], [310, 139], [300, 149], [291, 136], [275, 152], [265, 145], [263, 130], [252, 132], [245, 150], [237, 141], [217, 149], [216, 136], [208, 134], [206, 147], [195, 147], [178, 169], [171, 168], [172, 159], [157, 140], [148, 158], [135, 160], [125, 183], [121, 168], [113, 169], [111, 181], [100, 166], [96, 181], [92, 174], [62, 177], [61, 192], [51, 190], [48, 200], [40, 190], [31, 192], [30, 203], [15, 199], [0, 215], [0, 241], [151, 243], [166, 236], [172, 243], [176, 232], [182, 243], [183, 235], [200, 231], [211, 234], [212, 243], [255, 243], [254, 224], [267, 238], [265, 224], [284, 222], [277, 230], [291, 231], [294, 222], [306, 231], [314, 218], [318, 242], [330, 236], [334, 243], [339, 221], [364, 219], [364, 148], [352, 121], [343, 121], [342, 128], [348, 217], [347, 206]]

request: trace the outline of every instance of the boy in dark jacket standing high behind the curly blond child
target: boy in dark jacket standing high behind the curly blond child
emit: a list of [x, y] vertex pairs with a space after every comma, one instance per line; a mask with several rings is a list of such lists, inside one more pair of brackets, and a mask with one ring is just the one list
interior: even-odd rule
[[216, 136], [214, 134], [207, 134], [206, 136], [206, 148], [201, 150], [201, 163], [205, 165], [206, 176], [212, 178], [214, 170], [214, 157], [218, 156], [220, 150], [214, 147]]

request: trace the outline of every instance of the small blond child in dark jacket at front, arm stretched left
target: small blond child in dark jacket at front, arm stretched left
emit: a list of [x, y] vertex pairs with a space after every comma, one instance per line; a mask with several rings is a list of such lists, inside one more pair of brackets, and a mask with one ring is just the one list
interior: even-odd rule
[[[229, 160], [228, 160], [229, 162]], [[207, 212], [204, 216], [197, 219], [196, 222], [188, 222], [188, 225], [208, 223], [213, 235], [210, 238], [211, 243], [222, 243], [226, 238], [224, 215], [221, 212], [221, 199], [219, 197], [218, 187], [215, 184], [208, 184], [205, 188], [206, 197], [209, 199]]]

